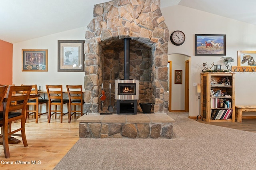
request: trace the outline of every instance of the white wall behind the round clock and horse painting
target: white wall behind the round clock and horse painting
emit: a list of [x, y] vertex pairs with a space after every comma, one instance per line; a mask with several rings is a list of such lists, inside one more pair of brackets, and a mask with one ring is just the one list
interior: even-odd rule
[[[233, 57], [235, 61], [232, 65], [237, 65], [237, 51], [256, 51], [256, 26], [180, 5], [162, 8], [161, 11], [170, 34], [181, 30], [186, 36], [180, 46], [169, 41], [168, 54], [179, 53], [191, 57], [189, 116], [195, 117], [198, 115], [198, 93], [193, 83], [200, 83], [202, 63], [213, 61], [224, 67], [221, 56], [194, 55], [195, 34], [226, 34], [226, 57]], [[254, 84], [256, 73], [236, 74], [236, 105], [256, 104]]]

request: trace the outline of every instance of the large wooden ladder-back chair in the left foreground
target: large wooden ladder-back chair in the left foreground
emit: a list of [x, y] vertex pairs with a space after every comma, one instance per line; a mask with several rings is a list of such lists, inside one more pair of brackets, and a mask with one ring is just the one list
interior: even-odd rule
[[[2, 134], [0, 138], [3, 138], [4, 146], [4, 156], [6, 158], [10, 157], [8, 136], [21, 131], [22, 142], [24, 147], [28, 146], [28, 142], [25, 134], [25, 117], [26, 117], [26, 104], [28, 102], [28, 97], [32, 86], [9, 86], [8, 92], [6, 94], [6, 101], [4, 102], [4, 110], [0, 112], [0, 124], [2, 125]], [[13, 92], [23, 92], [20, 94], [14, 94]], [[12, 105], [14, 101], [18, 102], [17, 105]], [[12, 130], [12, 121], [21, 120], [20, 128]], [[18, 136], [18, 134], [16, 134]], [[20, 136], [20, 135], [19, 135]]]

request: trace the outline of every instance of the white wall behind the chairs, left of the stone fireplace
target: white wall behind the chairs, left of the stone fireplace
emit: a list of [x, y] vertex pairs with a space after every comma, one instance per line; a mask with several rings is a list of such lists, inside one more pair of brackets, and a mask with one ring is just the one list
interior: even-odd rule
[[[85, 40], [85, 27], [13, 44], [13, 84], [83, 85], [84, 72], [58, 72], [58, 40]], [[22, 49], [48, 49], [48, 71], [22, 71]]]

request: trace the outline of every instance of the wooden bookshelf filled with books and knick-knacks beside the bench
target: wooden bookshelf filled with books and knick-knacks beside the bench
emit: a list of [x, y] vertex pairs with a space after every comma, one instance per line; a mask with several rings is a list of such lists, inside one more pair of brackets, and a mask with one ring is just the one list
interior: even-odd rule
[[[235, 121], [235, 74], [233, 72], [201, 73], [201, 115], [204, 121]], [[217, 91], [220, 95], [217, 93], [214, 96]], [[229, 119], [224, 119], [227, 118], [225, 116], [222, 119], [212, 119], [214, 110], [232, 110], [232, 115]]]

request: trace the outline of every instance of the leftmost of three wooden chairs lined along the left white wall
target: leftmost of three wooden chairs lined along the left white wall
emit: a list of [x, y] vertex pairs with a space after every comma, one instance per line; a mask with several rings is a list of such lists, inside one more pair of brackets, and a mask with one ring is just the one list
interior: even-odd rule
[[[24, 86], [24, 85], [22, 85], [22, 86]], [[37, 85], [32, 85], [32, 90], [31, 90], [30, 94], [38, 94]], [[41, 115], [46, 114], [47, 119], [48, 119], [48, 101], [49, 101], [48, 99], [39, 99], [38, 97], [29, 99], [28, 103], [27, 103], [26, 120], [27, 120], [27, 118], [29, 118], [29, 115], [32, 115], [32, 114], [34, 114], [34, 118], [36, 118], [36, 123], [38, 123], [38, 117]], [[46, 112], [39, 113], [39, 105], [42, 106], [42, 104], [44, 104], [44, 103], [46, 104]], [[30, 110], [31, 105], [33, 106], [32, 110]]]

